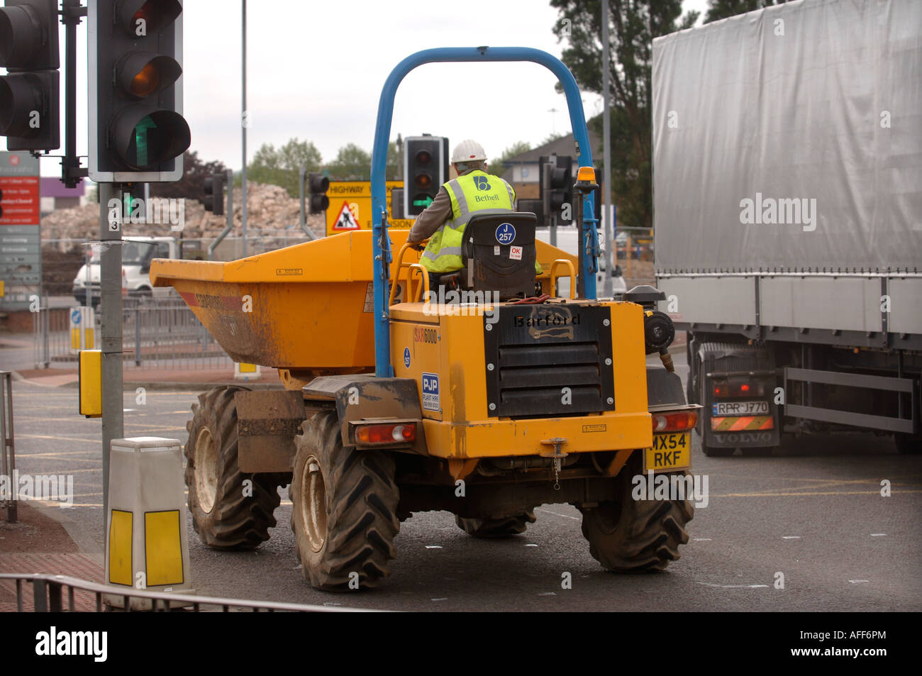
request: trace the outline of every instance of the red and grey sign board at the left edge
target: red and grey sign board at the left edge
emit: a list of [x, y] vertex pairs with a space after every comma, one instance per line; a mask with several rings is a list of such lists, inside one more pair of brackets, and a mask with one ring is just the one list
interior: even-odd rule
[[0, 152], [0, 280], [4, 311], [25, 310], [41, 291], [39, 160], [29, 152]]

